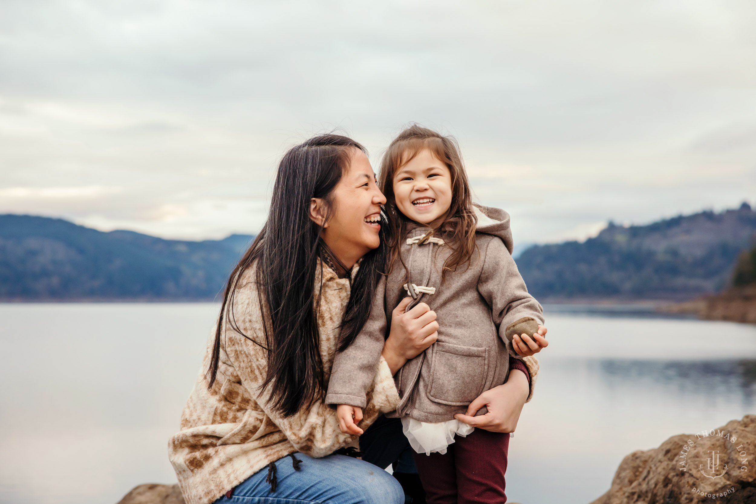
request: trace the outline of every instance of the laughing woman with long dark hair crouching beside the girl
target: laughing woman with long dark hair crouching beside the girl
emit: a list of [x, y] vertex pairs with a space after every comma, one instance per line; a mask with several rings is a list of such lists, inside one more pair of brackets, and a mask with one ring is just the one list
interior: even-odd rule
[[[181, 431], [169, 441], [188, 504], [404, 502], [388, 473], [333, 454], [355, 438], [321, 400], [339, 332], [361, 329], [386, 258], [383, 203], [364, 148], [349, 138], [321, 135], [283, 156], [268, 221], [231, 274]], [[395, 314], [361, 425], [395, 408], [392, 376], [437, 329], [422, 303]], [[511, 387], [519, 383], [526, 397], [524, 374], [514, 374], [522, 379]], [[488, 419], [471, 423], [511, 430], [525, 397], [514, 407], [502, 394], [480, 397]]]

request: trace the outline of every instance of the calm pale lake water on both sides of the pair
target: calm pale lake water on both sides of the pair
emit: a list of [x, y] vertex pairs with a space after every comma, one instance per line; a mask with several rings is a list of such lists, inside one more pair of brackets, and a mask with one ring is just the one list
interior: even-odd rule
[[[115, 504], [175, 482], [166, 442], [217, 310], [0, 305], [0, 502]], [[510, 444], [513, 502], [587, 504], [627, 453], [756, 413], [756, 326], [564, 306], [547, 326]]]

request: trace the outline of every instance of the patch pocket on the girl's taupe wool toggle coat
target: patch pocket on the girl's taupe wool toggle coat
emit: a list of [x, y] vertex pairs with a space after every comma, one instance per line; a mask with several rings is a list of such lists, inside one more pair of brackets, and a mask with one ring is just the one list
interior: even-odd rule
[[429, 399], [464, 406], [483, 392], [488, 378], [488, 348], [436, 342], [432, 366]]

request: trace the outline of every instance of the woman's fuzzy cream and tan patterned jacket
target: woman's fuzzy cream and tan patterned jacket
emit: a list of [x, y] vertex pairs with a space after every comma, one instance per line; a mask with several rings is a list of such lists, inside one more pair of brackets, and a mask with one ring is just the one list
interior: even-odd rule
[[[357, 269], [353, 268], [352, 275]], [[243, 274], [234, 298], [234, 317], [246, 335], [264, 342], [253, 280], [251, 271]], [[349, 279], [339, 279], [329, 267], [324, 267], [322, 287], [318, 328], [327, 387], [350, 284]], [[355, 436], [339, 430], [336, 411], [321, 401], [288, 418], [271, 411], [267, 394], [259, 392], [265, 379], [267, 352], [231, 327], [224, 328], [218, 376], [208, 390], [205, 372], [213, 341], [214, 336], [208, 341], [197, 382], [181, 415], [181, 430], [168, 444], [169, 459], [187, 504], [213, 502], [289, 453], [299, 451], [321, 457], [355, 441]], [[535, 378], [538, 360], [531, 357], [525, 363]], [[380, 413], [394, 410], [399, 402], [383, 357], [367, 400], [361, 428], [367, 428]]]

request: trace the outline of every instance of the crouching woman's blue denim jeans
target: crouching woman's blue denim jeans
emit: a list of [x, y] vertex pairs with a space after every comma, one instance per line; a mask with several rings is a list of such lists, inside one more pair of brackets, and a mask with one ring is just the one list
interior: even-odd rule
[[302, 461], [296, 471], [290, 456], [275, 462], [277, 485], [265, 482], [268, 468], [262, 468], [238, 487], [231, 497], [222, 496], [217, 504], [403, 504], [404, 492], [392, 475], [375, 465], [345, 455], [313, 459], [295, 453]]

